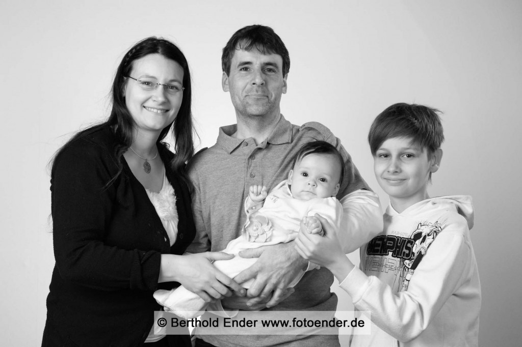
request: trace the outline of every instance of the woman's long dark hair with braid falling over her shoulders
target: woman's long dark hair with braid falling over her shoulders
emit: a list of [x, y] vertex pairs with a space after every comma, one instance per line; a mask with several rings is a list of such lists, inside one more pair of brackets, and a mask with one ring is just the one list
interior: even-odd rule
[[171, 169], [177, 173], [185, 183], [187, 183], [190, 189], [192, 189], [192, 184], [188, 179], [186, 172], [186, 162], [194, 155], [194, 126], [191, 114], [191, 74], [188, 69], [187, 60], [180, 49], [172, 42], [156, 37], [150, 37], [136, 43], [123, 57], [116, 70], [116, 76], [114, 76], [114, 82], [112, 84], [112, 110], [109, 119], [100, 125], [78, 132], [62, 148], [60, 148], [60, 150], [58, 150], [56, 156], [58, 156], [69, 143], [79, 138], [85, 138], [87, 135], [99, 130], [101, 127], [109, 125], [111, 126], [111, 129], [113, 129], [114, 135], [118, 141], [118, 145], [114, 148], [114, 156], [117, 158], [116, 164], [118, 166], [118, 172], [109, 182], [107, 182], [106, 187], [108, 187], [121, 174], [123, 170], [122, 156], [132, 144], [134, 139], [134, 129], [136, 127], [136, 123], [125, 105], [125, 78], [131, 74], [134, 61], [149, 54], [161, 54], [165, 58], [174, 60], [183, 68], [183, 86], [185, 89], [183, 91], [183, 100], [180, 109], [175, 120], [160, 132], [157, 145], [160, 148], [162, 146], [168, 148], [168, 144], [163, 143], [162, 140], [169, 133], [171, 126], [174, 125], [174, 151], [176, 155], [170, 163], [165, 163], [165, 165], [170, 165]]

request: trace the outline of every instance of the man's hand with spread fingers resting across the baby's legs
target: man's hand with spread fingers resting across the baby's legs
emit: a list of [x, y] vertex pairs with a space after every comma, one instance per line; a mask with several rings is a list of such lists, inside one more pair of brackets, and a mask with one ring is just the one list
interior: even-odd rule
[[280, 303], [286, 298], [286, 290], [290, 282], [308, 264], [295, 250], [293, 242], [241, 251], [239, 255], [243, 258], [259, 257], [254, 265], [234, 277], [234, 281], [238, 283], [255, 278], [246, 293], [249, 298], [252, 298], [247, 304], [252, 306], [267, 300], [270, 295], [271, 299], [266, 303], [266, 307]]

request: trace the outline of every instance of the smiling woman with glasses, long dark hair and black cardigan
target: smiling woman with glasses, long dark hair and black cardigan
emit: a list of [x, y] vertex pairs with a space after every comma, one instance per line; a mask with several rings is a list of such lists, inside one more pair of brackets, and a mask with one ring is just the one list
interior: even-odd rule
[[[191, 77], [173, 43], [148, 38], [116, 71], [109, 119], [76, 134], [51, 171], [55, 266], [43, 346], [191, 346], [153, 327], [152, 293], [182, 283], [206, 301], [241, 287], [182, 255], [195, 227], [185, 164], [194, 154]], [[174, 134], [174, 150], [163, 142]], [[130, 150], [130, 151], [129, 151]]]

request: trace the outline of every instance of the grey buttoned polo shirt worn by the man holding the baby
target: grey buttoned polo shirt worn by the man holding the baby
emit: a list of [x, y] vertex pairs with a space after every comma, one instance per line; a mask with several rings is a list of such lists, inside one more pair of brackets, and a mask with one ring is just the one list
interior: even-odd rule
[[[306, 142], [327, 141], [340, 151], [345, 160], [345, 177], [337, 198], [358, 190], [369, 189], [340, 140], [321, 123], [309, 122], [301, 127], [281, 116], [268, 138], [255, 144], [254, 139], [235, 139], [236, 125], [221, 127], [217, 143], [200, 151], [189, 163], [194, 183], [193, 212], [196, 238], [188, 252], [221, 251], [240, 236], [246, 220], [243, 203], [248, 188], [262, 184], [270, 190], [288, 177], [293, 158]], [[333, 275], [326, 268], [307, 272], [294, 287], [295, 292], [270, 310], [335, 311], [337, 296], [330, 293]], [[198, 331], [204, 328], [198, 328]], [[217, 346], [335, 345], [337, 336], [202, 336]], [[298, 340], [298, 341], [295, 341]], [[293, 342], [292, 342], [293, 341]]]

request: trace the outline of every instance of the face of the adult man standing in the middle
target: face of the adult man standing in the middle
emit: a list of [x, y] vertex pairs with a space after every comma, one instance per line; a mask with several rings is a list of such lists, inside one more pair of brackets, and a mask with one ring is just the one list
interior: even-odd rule
[[287, 92], [287, 76], [282, 73], [283, 59], [253, 49], [235, 51], [230, 73], [223, 72], [223, 91], [230, 92], [235, 113], [243, 117], [277, 117], [281, 94]]

